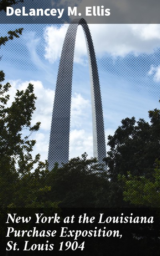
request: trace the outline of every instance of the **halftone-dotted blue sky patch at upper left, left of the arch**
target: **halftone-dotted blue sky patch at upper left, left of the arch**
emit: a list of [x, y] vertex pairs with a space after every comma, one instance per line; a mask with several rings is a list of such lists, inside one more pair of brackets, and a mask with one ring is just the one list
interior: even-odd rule
[[[13, 65], [19, 70], [29, 70], [36, 71], [37, 68], [34, 65], [32, 59], [32, 51], [30, 50], [30, 46], [34, 44], [34, 41], [38, 41], [36, 44], [35, 50], [36, 54], [41, 60], [44, 60], [44, 29], [46, 26], [50, 26], [47, 24], [38, 25], [38, 24], [4, 24], [2, 30], [2, 36], [6, 36], [8, 30], [15, 30], [16, 28], [24, 28], [22, 35], [17, 39], [14, 38], [7, 42], [5, 46], [1, 46], [1, 56], [3, 57], [3, 61]], [[14, 52], [13, 50], [14, 49]]]

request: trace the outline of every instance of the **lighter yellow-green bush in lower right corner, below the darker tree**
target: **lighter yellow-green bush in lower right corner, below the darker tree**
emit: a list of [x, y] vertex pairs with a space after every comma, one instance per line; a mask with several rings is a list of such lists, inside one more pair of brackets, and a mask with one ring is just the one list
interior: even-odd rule
[[124, 182], [124, 200], [132, 204], [160, 207], [160, 161], [156, 161], [156, 168], [150, 178], [145, 176], [133, 176], [128, 172], [127, 176], [119, 175]]

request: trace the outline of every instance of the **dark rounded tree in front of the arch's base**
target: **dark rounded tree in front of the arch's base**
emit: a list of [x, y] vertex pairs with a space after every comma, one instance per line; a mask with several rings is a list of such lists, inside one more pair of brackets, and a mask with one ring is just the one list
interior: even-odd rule
[[72, 158], [62, 167], [48, 174], [47, 184], [51, 186], [50, 196], [60, 201], [62, 207], [107, 206], [108, 174], [96, 158]]

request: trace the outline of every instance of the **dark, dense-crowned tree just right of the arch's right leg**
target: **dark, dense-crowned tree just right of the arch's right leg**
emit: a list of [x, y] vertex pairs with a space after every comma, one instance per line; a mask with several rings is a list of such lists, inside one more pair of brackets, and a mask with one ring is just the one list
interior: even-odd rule
[[110, 150], [105, 161], [110, 174], [110, 205], [127, 206], [118, 174], [152, 177], [154, 163], [160, 159], [160, 110], [149, 111], [150, 123], [134, 117], [122, 120], [113, 136], [108, 136]]

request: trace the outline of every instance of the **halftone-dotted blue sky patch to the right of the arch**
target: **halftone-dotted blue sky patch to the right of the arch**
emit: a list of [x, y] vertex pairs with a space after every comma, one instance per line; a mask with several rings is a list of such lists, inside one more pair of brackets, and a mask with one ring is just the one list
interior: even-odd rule
[[[99, 67], [117, 79], [124, 79], [138, 92], [142, 89], [159, 99], [160, 79], [156, 80], [156, 69], [160, 66], [160, 48], [152, 53], [127, 54], [125, 57], [104, 56]], [[153, 69], [153, 70], [152, 70]], [[152, 72], [151, 72], [152, 70]]]

